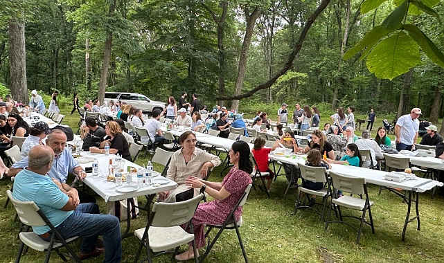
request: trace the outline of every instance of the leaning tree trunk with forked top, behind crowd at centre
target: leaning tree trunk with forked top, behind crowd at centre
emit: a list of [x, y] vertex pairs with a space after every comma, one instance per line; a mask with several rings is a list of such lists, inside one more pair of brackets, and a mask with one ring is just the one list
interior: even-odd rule
[[[261, 10], [256, 7], [254, 11], [249, 14], [249, 10], [247, 7], [244, 8], [245, 12], [245, 21], [246, 21], [246, 30], [244, 42], [242, 43], [242, 48], [240, 50], [240, 58], [239, 58], [239, 67], [238, 67], [238, 78], [236, 78], [236, 84], [234, 86], [234, 96], [239, 96], [242, 91], [242, 85], [244, 84], [245, 71], [247, 71], [247, 60], [248, 60], [248, 51], [251, 44], [251, 36], [254, 32], [254, 24], [256, 24], [256, 19], [260, 16]], [[239, 100], [233, 100], [231, 104], [231, 109], [235, 109], [238, 111], [239, 109]]]

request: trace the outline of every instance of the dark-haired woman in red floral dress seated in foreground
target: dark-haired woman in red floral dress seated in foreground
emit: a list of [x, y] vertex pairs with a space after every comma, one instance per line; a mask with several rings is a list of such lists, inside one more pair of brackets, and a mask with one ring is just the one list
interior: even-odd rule
[[[214, 201], [200, 203], [193, 219], [191, 219], [197, 248], [205, 245], [204, 224], [223, 224], [240, 197], [242, 197], [247, 185], [251, 183], [250, 174], [253, 171], [253, 166], [249, 158], [249, 145], [241, 140], [236, 140], [231, 146], [229, 156], [230, 162], [234, 166], [222, 183], [204, 181], [195, 176], [189, 176], [185, 181], [188, 187], [201, 188], [206, 194], [215, 199]], [[240, 215], [242, 215], [242, 207], [238, 207], [234, 212], [236, 221], [240, 219]], [[199, 255], [196, 256], [199, 257]], [[193, 245], [190, 243], [188, 250], [176, 255], [175, 258], [184, 261], [194, 257]]]

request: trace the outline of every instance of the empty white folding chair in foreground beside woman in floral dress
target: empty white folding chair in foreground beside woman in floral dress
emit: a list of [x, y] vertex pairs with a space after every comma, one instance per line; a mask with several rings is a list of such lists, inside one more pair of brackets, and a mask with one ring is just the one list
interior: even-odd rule
[[[193, 224], [190, 220], [202, 200], [203, 194], [197, 195], [192, 199], [177, 203], [154, 203], [152, 212], [145, 228], [134, 231], [134, 235], [140, 239], [134, 262], [138, 262], [143, 246], [146, 247], [147, 258], [142, 262], [152, 262], [152, 257], [162, 255], [172, 248], [175, 248], [172, 258], [179, 251], [179, 246], [193, 243], [194, 255], [197, 255], [197, 249], [194, 239]], [[187, 224], [190, 229], [188, 233], [181, 225]], [[152, 253], [157, 253], [152, 255]], [[195, 263], [199, 262], [195, 257]]]

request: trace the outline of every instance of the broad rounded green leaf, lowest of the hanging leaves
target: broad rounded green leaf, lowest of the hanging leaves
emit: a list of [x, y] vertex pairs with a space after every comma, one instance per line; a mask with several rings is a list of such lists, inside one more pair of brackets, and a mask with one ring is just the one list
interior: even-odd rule
[[378, 78], [393, 80], [419, 62], [418, 44], [400, 31], [379, 42], [368, 55], [366, 65]]

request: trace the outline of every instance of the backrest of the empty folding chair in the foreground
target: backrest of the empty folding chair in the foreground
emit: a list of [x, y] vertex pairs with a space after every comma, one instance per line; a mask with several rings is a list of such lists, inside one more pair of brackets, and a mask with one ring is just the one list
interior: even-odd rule
[[152, 212], [155, 214], [151, 226], [171, 227], [186, 224], [193, 218], [197, 205], [203, 197], [204, 194], [199, 194], [197, 197], [177, 203], [154, 203]]

